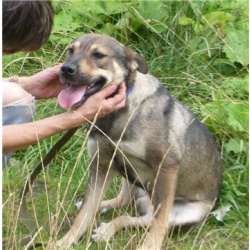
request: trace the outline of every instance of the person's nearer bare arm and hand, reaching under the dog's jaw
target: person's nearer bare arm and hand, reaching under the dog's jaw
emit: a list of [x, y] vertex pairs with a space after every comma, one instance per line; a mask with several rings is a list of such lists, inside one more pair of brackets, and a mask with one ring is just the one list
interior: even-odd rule
[[116, 89], [117, 86], [115, 85], [106, 87], [91, 96], [75, 111], [68, 111], [35, 122], [3, 126], [3, 153], [25, 148], [64, 130], [78, 127], [88, 120], [93, 120], [98, 111], [100, 111], [98, 117], [102, 117], [124, 107], [126, 98], [126, 86], [124, 83], [120, 85], [118, 94], [112, 98], [105, 99]]

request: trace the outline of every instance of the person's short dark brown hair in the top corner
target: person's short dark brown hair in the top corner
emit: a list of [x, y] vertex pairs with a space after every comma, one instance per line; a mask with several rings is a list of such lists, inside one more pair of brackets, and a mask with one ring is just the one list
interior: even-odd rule
[[33, 51], [42, 47], [53, 26], [51, 1], [4, 0], [2, 4], [3, 52]]

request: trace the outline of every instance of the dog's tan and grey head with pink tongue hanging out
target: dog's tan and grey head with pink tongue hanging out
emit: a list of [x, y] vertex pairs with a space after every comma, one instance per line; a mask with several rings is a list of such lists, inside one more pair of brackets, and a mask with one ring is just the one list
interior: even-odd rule
[[68, 46], [60, 80], [67, 84], [59, 96], [65, 109], [78, 106], [83, 96], [98, 92], [107, 84], [130, 84], [136, 71], [146, 74], [148, 66], [143, 57], [123, 46], [114, 38], [87, 34], [78, 37]]

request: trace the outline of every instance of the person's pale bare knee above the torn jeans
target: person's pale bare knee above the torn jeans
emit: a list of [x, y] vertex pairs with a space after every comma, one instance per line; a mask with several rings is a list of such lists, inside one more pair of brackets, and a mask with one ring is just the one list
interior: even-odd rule
[[2, 105], [8, 105], [15, 102], [21, 102], [31, 98], [31, 94], [13, 82], [3, 82], [2, 87]]

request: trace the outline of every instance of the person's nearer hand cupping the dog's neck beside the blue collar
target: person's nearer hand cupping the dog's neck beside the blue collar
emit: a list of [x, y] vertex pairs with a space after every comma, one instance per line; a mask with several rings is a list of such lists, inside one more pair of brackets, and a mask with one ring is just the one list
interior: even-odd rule
[[[118, 93], [112, 95], [118, 88]], [[125, 107], [126, 101], [126, 85], [121, 83], [117, 85], [109, 85], [96, 94], [92, 95], [87, 101], [75, 110], [76, 113], [88, 120], [93, 120], [98, 114], [98, 118], [104, 117], [112, 111]]]

